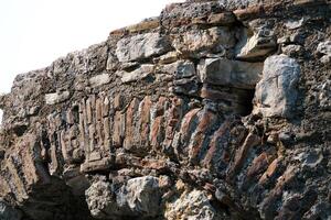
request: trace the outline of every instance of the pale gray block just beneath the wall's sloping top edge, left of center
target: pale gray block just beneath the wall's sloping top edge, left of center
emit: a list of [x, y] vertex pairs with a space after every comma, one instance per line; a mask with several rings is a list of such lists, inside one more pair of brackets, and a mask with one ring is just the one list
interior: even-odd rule
[[170, 50], [166, 37], [159, 33], [147, 33], [121, 38], [117, 43], [116, 55], [119, 62], [125, 63], [164, 54]]

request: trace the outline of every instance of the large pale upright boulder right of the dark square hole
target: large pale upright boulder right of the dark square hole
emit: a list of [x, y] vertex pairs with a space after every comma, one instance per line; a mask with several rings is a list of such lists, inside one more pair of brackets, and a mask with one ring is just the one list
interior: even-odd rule
[[261, 80], [256, 85], [255, 113], [265, 117], [292, 118], [298, 97], [300, 66], [286, 55], [265, 61]]

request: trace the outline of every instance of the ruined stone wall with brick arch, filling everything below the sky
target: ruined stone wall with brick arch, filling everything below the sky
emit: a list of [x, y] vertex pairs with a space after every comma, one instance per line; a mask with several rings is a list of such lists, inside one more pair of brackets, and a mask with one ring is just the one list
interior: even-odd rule
[[330, 6], [174, 3], [19, 75], [0, 219], [329, 220]]

